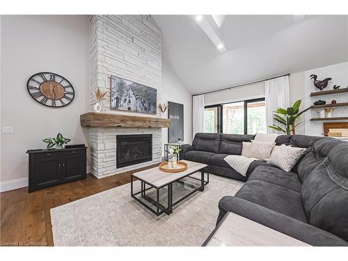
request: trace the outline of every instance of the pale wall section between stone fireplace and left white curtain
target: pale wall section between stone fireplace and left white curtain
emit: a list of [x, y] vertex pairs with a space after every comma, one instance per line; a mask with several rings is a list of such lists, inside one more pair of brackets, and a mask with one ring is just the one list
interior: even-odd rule
[[[184, 104], [184, 141], [192, 141], [192, 94], [182, 84], [179, 77], [162, 58], [162, 103], [177, 102]], [[166, 111], [168, 117], [168, 110]], [[168, 143], [168, 129], [162, 129], [162, 143]], [[162, 155], [164, 146], [162, 144]]]

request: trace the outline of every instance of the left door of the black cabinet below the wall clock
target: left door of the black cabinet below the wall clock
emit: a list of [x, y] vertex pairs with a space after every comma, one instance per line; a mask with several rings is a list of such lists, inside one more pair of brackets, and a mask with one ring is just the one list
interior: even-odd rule
[[34, 164], [34, 189], [43, 189], [61, 182], [61, 155], [38, 155]]

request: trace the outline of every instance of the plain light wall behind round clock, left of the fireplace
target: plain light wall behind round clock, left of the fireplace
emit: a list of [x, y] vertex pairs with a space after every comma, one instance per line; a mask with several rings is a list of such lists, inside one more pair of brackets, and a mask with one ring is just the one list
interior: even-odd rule
[[[1, 21], [1, 189], [27, 185], [26, 150], [45, 148], [42, 139], [61, 132], [71, 144], [88, 144], [79, 116], [88, 111], [88, 16], [3, 15]], [[32, 74], [61, 74], [74, 86], [75, 97], [63, 108], [35, 102], [26, 90]], [[10, 182], [9, 180], [13, 180]]]

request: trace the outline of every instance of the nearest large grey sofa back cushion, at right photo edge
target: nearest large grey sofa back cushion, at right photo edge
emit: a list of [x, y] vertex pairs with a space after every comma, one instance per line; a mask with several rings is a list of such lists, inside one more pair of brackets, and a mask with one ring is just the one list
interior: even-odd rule
[[309, 223], [348, 241], [348, 143], [335, 145], [303, 182]]

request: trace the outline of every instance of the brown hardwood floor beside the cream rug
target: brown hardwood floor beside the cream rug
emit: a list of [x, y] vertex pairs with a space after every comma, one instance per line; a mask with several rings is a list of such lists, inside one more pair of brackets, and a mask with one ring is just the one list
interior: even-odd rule
[[[97, 179], [79, 180], [28, 193], [28, 187], [0, 193], [0, 246], [54, 246], [49, 209], [130, 182], [128, 171]], [[130, 193], [130, 192], [129, 192]]]

